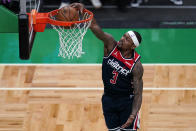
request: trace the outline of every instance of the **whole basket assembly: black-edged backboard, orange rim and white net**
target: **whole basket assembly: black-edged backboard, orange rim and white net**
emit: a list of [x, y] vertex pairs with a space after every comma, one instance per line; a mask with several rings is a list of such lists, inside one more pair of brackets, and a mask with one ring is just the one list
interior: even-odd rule
[[[86, 34], [92, 18], [93, 13], [87, 9], [83, 10], [81, 17], [74, 21], [60, 21], [56, 17], [61, 12], [61, 9], [56, 9], [50, 12], [39, 12], [42, 5], [41, 0], [21, 0], [20, 14], [19, 14], [19, 48], [20, 58], [29, 59], [33, 47], [36, 32], [44, 32], [46, 24], [52, 25], [52, 28], [59, 34], [59, 56], [63, 58], [81, 57], [82, 41]], [[73, 7], [72, 7], [73, 8]], [[71, 9], [68, 7], [67, 9]], [[73, 13], [75, 9], [69, 11]], [[66, 15], [66, 14], [63, 14]], [[75, 15], [73, 15], [75, 16]], [[71, 18], [72, 19], [72, 18]]]

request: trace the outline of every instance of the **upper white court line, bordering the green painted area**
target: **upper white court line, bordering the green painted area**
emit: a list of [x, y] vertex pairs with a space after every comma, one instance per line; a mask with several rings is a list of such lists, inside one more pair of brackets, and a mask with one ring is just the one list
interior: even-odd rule
[[[153, 63], [142, 64], [143, 66], [196, 66], [196, 63]], [[0, 64], [0, 66], [102, 66], [102, 64]]]

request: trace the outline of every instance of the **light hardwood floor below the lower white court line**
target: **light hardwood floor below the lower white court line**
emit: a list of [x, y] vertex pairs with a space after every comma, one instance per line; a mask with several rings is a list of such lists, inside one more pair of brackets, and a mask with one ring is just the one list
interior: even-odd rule
[[[0, 131], [107, 131], [102, 91], [0, 91]], [[140, 131], [195, 131], [196, 91], [144, 91]]]

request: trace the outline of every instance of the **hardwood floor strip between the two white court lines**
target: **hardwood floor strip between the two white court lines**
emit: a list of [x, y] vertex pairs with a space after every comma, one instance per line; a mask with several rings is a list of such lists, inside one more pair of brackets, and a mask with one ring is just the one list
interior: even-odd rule
[[[144, 87], [196, 87], [196, 66], [144, 66]], [[98, 66], [0, 66], [0, 87], [103, 87]]]

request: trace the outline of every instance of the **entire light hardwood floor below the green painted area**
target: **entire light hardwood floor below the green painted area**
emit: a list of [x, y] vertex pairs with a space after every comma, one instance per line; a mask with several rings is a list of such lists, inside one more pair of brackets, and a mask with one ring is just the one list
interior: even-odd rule
[[[196, 66], [144, 69], [141, 131], [195, 131]], [[0, 66], [0, 87], [102, 86], [101, 66]], [[193, 90], [183, 90], [188, 87]], [[0, 131], [106, 131], [102, 92], [0, 90]]]

